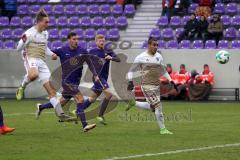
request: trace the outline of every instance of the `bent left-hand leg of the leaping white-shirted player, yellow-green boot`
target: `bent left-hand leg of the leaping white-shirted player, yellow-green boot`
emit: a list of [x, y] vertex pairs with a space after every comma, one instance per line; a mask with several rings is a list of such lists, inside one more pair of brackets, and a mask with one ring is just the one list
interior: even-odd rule
[[16, 91], [16, 99], [22, 100], [24, 98], [24, 90], [26, 86], [38, 78], [38, 66], [36, 59], [34, 58], [25, 58], [24, 67], [26, 70], [26, 75], [24, 76], [22, 84], [18, 87]]

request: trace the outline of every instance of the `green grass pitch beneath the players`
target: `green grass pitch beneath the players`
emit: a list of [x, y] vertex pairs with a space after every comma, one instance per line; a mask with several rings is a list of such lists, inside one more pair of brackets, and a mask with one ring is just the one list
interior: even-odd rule
[[[16, 131], [0, 135], [0, 160], [104, 160], [153, 153], [136, 160], [236, 160], [240, 145], [155, 155], [168, 151], [240, 143], [240, 103], [163, 102], [166, 126], [160, 135], [150, 111], [123, 102], [106, 115], [107, 126], [83, 133], [80, 124], [59, 123], [53, 110], [35, 120], [36, 100], [1, 100], [5, 122]], [[40, 101], [43, 102], [43, 101]], [[95, 119], [90, 122], [96, 122]], [[131, 158], [127, 158], [131, 159]]]

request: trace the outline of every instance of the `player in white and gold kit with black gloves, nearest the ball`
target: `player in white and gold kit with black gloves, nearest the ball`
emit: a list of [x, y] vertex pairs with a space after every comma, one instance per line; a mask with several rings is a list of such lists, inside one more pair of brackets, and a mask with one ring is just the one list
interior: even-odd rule
[[160, 127], [160, 134], [173, 134], [168, 131], [164, 124], [164, 116], [162, 112], [162, 104], [160, 102], [160, 75], [163, 75], [169, 80], [169, 83], [173, 83], [171, 77], [166, 71], [166, 67], [163, 63], [163, 58], [160, 53], [157, 52], [158, 41], [154, 38], [148, 40], [148, 50], [138, 55], [134, 63], [128, 72], [128, 90], [134, 89], [133, 84], [133, 73], [140, 70], [141, 74], [141, 89], [147, 100], [147, 102], [132, 101], [131, 106], [136, 105], [137, 107], [153, 110], [157, 122]]

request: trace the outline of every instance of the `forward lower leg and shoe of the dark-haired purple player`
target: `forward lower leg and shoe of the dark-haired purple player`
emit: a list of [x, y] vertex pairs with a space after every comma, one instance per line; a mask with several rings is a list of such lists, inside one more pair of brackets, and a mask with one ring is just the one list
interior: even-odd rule
[[86, 116], [84, 113], [84, 106], [83, 106], [84, 98], [83, 98], [83, 95], [81, 94], [81, 92], [78, 92], [78, 94], [74, 96], [74, 99], [77, 103], [76, 114], [77, 114], [77, 117], [81, 120], [84, 132], [87, 132], [87, 131], [95, 128], [96, 124], [88, 124], [87, 123]]

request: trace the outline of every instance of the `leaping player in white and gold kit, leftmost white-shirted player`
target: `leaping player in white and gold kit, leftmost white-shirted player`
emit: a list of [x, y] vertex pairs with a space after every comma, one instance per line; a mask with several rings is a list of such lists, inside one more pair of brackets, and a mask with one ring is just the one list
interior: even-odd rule
[[24, 89], [30, 82], [40, 80], [46, 89], [50, 102], [54, 106], [57, 116], [61, 120], [67, 120], [62, 110], [62, 106], [56, 97], [56, 91], [51, 85], [50, 71], [45, 63], [45, 56], [52, 56], [56, 59], [56, 55], [48, 48], [48, 32], [46, 31], [49, 18], [44, 10], [40, 10], [36, 16], [36, 25], [28, 29], [18, 43], [17, 50], [22, 52], [26, 75], [21, 86], [16, 92], [17, 100], [21, 100], [24, 96]]

